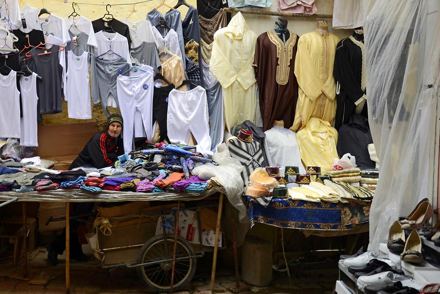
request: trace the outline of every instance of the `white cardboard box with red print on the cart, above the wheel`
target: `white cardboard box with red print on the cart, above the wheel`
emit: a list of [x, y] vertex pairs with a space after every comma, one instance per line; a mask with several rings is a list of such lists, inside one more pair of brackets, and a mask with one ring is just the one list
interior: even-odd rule
[[[201, 216], [200, 216], [200, 222], [201, 222]], [[217, 222], [217, 215], [216, 215], [216, 222]], [[165, 216], [165, 228], [167, 234], [174, 234], [174, 215], [168, 214]], [[162, 219], [159, 218], [157, 220], [156, 225], [156, 235], [163, 234], [163, 228], [162, 228]], [[179, 213], [179, 235], [184, 238], [186, 241], [192, 244], [199, 244], [199, 232], [198, 232], [198, 223], [197, 223], [197, 215], [196, 211], [194, 210], [181, 210]], [[216, 237], [216, 231], [211, 229], [203, 229], [202, 225], [202, 245], [204, 246], [214, 246], [215, 244], [215, 237]], [[222, 234], [220, 232], [219, 234], [219, 247], [221, 247], [222, 244]]]

